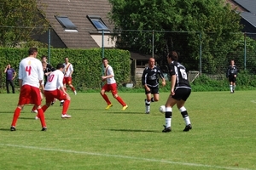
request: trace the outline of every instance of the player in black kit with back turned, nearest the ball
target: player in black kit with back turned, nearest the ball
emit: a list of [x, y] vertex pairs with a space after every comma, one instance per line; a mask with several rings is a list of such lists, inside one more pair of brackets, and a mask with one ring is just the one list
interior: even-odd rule
[[186, 68], [177, 62], [178, 56], [177, 52], [172, 51], [167, 54], [167, 60], [169, 64], [169, 74], [171, 77], [171, 94], [166, 101], [166, 125], [164, 125], [163, 133], [168, 133], [172, 131], [172, 107], [177, 105], [177, 109], [181, 112], [183, 116], [186, 127], [183, 129], [184, 132], [192, 129], [189, 114], [184, 104], [189, 98], [191, 93], [191, 88], [189, 85], [189, 80], [187, 77]]

